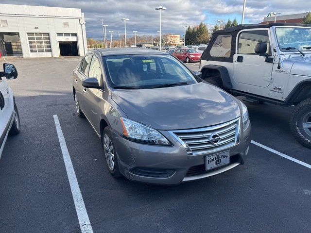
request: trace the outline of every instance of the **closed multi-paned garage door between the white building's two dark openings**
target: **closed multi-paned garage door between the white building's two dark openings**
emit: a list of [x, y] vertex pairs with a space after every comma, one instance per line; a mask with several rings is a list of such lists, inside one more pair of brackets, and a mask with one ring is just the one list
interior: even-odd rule
[[52, 52], [49, 33], [27, 33], [30, 52]]

